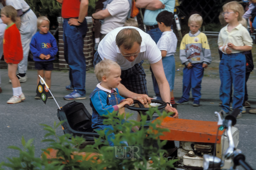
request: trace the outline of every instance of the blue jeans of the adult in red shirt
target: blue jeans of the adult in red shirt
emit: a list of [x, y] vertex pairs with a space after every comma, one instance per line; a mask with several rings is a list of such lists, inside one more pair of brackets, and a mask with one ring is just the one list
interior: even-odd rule
[[84, 37], [87, 32], [87, 22], [79, 25], [69, 25], [69, 19], [63, 21], [64, 58], [69, 65], [70, 85], [80, 95], [85, 95], [86, 63], [83, 53]]

